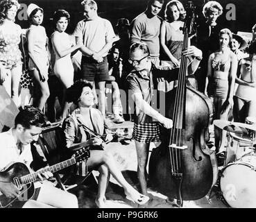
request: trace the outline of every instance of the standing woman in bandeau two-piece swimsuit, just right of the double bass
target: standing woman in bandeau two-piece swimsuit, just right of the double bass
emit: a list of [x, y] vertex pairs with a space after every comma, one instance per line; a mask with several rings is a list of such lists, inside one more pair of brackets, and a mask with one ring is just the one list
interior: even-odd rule
[[[237, 58], [229, 48], [232, 33], [223, 28], [219, 33], [219, 50], [212, 53], [208, 60], [205, 94], [210, 96], [214, 104], [214, 119], [228, 120], [233, 105], [234, 80], [237, 74]], [[222, 136], [215, 130], [216, 153], [223, 151], [225, 130]], [[222, 139], [223, 138], [223, 139]]]

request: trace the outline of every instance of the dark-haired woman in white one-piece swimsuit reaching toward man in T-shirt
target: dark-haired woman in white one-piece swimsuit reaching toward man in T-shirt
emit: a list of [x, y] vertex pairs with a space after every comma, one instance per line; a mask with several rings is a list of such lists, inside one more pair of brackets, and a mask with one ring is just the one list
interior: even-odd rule
[[[53, 22], [56, 31], [51, 35], [51, 43], [55, 55], [54, 74], [60, 79], [63, 85], [63, 95], [68, 87], [71, 87], [74, 81], [74, 67], [71, 61], [71, 53], [76, 51], [82, 44], [73, 44], [71, 37], [65, 33], [67, 25], [69, 24], [69, 12], [65, 10], [57, 10], [53, 15]], [[62, 101], [62, 114], [60, 119], [67, 117], [69, 110], [68, 103], [65, 103], [65, 96]]]

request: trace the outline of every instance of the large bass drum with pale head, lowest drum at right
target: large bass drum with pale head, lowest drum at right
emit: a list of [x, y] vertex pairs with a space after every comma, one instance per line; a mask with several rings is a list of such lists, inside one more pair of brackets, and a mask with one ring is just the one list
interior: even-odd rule
[[234, 208], [256, 207], [256, 156], [246, 154], [223, 168], [220, 187], [225, 202]]

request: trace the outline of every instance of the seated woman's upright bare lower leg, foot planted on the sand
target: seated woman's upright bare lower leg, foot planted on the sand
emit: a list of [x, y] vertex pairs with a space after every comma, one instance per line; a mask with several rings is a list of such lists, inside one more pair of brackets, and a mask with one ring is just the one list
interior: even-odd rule
[[108, 167], [101, 165], [101, 167], [99, 167], [98, 194], [95, 200], [95, 203], [99, 208], [104, 208], [105, 206], [105, 191], [108, 187], [109, 180], [110, 173], [108, 171]]

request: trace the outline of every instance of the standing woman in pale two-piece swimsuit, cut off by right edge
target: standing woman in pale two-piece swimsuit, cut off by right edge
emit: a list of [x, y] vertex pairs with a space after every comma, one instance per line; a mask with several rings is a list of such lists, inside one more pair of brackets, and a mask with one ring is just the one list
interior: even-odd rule
[[[254, 30], [253, 30], [254, 32]], [[234, 121], [244, 123], [246, 117], [256, 117], [256, 42], [255, 35], [248, 48], [249, 56], [239, 62], [238, 84], [234, 95]]]

